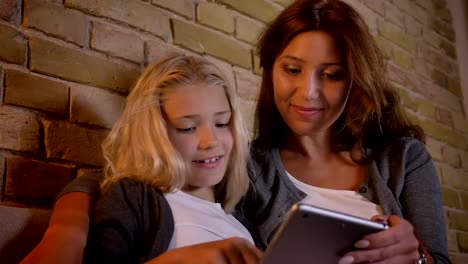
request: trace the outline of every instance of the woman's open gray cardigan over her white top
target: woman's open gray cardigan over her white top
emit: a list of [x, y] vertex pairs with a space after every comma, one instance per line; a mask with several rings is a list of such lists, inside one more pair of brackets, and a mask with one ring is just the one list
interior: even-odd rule
[[[254, 189], [239, 205], [236, 217], [251, 231], [258, 246], [265, 248], [289, 208], [306, 194], [286, 175], [278, 149], [265, 152], [252, 148], [249, 175]], [[437, 263], [451, 263], [439, 179], [422, 142], [401, 138], [391, 144], [367, 166], [366, 181], [359, 190], [380, 204], [384, 214], [410, 221]]]

